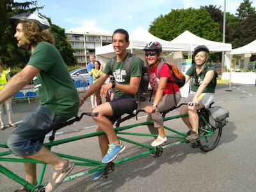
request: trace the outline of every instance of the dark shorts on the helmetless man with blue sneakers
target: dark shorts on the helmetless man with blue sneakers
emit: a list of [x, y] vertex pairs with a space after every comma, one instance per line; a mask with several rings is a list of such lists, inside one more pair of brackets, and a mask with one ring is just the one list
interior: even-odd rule
[[129, 97], [117, 97], [109, 101], [109, 104], [113, 111], [113, 116], [107, 116], [109, 120], [114, 124], [120, 116], [125, 113], [131, 114], [135, 109], [138, 108], [138, 104], [134, 99]]

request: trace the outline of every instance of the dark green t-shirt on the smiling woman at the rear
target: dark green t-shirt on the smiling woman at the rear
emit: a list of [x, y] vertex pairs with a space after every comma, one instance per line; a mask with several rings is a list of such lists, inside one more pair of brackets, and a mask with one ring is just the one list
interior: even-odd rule
[[[191, 90], [193, 92], [196, 92], [198, 90], [198, 87], [200, 86], [200, 84], [204, 81], [204, 76], [206, 74], [205, 70], [207, 70], [207, 72], [209, 70], [213, 70], [215, 72], [215, 67], [212, 66], [209, 63], [206, 63], [204, 66], [204, 69], [200, 72], [200, 74], [198, 74], [198, 81], [195, 80], [195, 75], [193, 74], [193, 67], [196, 64], [193, 64], [188, 71], [186, 72], [186, 75], [192, 78], [192, 88]], [[209, 66], [209, 68], [208, 68]], [[216, 74], [214, 74], [212, 81], [207, 85], [207, 87], [205, 88], [203, 93], [215, 93], [215, 88], [214, 88], [214, 78], [215, 78]]]

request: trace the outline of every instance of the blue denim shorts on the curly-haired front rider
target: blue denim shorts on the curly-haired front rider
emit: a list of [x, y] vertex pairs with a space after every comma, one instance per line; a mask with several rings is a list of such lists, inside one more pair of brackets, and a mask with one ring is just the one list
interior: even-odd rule
[[7, 141], [10, 152], [16, 156], [35, 154], [42, 148], [45, 134], [67, 120], [67, 117], [58, 116], [39, 106], [10, 134]]

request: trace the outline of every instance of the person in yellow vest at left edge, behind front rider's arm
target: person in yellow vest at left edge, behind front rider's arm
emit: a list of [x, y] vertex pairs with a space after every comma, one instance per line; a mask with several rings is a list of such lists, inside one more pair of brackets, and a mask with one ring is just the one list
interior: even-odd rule
[[[7, 70], [3, 70], [3, 62], [0, 60], [0, 90], [4, 88], [4, 85], [7, 83], [7, 81], [10, 81], [10, 67]], [[6, 114], [8, 116], [8, 122], [10, 127], [17, 127], [17, 125], [12, 123], [12, 98], [7, 99], [4, 102], [4, 106], [6, 109]], [[5, 129], [4, 120], [3, 120], [3, 103], [0, 104], [0, 122], [1, 127], [0, 130]]]

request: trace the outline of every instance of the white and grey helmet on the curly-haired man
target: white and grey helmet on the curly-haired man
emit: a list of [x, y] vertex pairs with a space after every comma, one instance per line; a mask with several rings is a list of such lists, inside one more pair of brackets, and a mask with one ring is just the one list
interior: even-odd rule
[[36, 13], [21, 13], [19, 15], [15, 15], [11, 17], [9, 20], [13, 24], [17, 24], [16, 22], [18, 20], [23, 20], [25, 22], [29, 22], [29, 21], [36, 22], [40, 26], [42, 31], [44, 31], [45, 29], [51, 28], [48, 20], [42, 17], [41, 15], [37, 15]]

